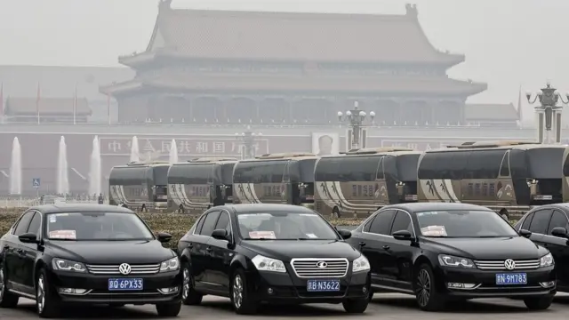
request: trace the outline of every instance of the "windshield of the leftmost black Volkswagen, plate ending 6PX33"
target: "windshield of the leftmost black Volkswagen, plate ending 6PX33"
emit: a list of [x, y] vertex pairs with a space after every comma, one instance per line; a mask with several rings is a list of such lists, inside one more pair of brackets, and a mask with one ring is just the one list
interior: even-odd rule
[[51, 240], [152, 240], [140, 218], [124, 212], [65, 212], [46, 216], [45, 235]]

